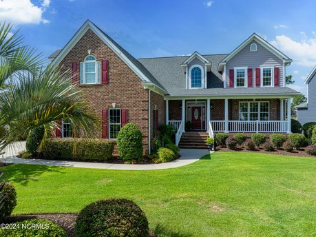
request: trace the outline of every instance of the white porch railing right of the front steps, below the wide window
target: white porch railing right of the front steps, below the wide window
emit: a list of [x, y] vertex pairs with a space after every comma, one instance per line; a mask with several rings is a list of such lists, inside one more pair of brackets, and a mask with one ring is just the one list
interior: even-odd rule
[[[225, 131], [225, 121], [210, 121], [214, 132]], [[228, 132], [287, 132], [288, 121], [228, 121]]]

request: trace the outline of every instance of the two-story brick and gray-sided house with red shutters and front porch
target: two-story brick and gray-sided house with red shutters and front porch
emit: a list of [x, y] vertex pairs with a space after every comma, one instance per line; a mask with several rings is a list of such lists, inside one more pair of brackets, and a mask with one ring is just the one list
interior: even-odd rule
[[[286, 87], [291, 59], [257, 34], [230, 54], [135, 59], [91, 21], [86, 21], [62, 50], [50, 56], [54, 65], [72, 68], [73, 82], [100, 114], [96, 136], [115, 139], [126, 123], [143, 132], [145, 152], [159, 124], [176, 128], [178, 144], [191, 131], [291, 133]], [[61, 136], [71, 134], [67, 123]]]

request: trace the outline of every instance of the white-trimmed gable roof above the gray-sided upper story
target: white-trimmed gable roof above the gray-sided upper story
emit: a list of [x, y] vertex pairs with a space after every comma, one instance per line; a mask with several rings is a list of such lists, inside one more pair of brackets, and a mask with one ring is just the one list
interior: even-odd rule
[[242, 44], [240, 44], [233, 52], [231, 52], [229, 55], [227, 55], [218, 65], [218, 70], [222, 72], [222, 67], [229, 61], [233, 56], [238, 54], [240, 50], [242, 50], [246, 45], [248, 45], [251, 41], [257, 41], [257, 43], [260, 43], [266, 50], [270, 51], [271, 53], [275, 54], [278, 58], [282, 59], [286, 65], [290, 65], [292, 62], [292, 59], [290, 59], [288, 56], [286, 56], [284, 53], [282, 53], [280, 50], [277, 50], [271, 43], [268, 43], [268, 41], [264, 40], [262, 37], [260, 37], [258, 34], [251, 34], [248, 39], [246, 39]]

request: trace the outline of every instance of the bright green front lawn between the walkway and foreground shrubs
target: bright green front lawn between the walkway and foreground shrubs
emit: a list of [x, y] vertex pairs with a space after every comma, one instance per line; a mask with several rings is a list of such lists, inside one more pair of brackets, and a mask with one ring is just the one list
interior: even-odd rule
[[217, 152], [176, 169], [10, 165], [14, 214], [134, 200], [159, 236], [316, 236], [316, 158]]

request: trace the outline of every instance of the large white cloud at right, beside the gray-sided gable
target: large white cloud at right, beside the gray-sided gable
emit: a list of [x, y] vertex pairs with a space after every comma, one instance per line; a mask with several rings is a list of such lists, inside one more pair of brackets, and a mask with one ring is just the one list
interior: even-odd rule
[[308, 39], [305, 32], [301, 32], [304, 39], [295, 41], [285, 35], [277, 35], [270, 43], [293, 59], [293, 63], [311, 67], [316, 65], [316, 39]]

